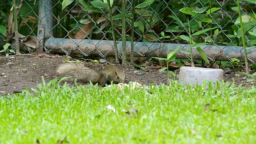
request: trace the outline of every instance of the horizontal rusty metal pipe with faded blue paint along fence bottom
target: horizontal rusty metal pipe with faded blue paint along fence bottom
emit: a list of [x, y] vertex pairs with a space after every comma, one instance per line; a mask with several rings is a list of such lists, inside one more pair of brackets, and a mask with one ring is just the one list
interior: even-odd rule
[[[96, 54], [100, 56], [114, 56], [115, 51], [113, 49], [113, 41], [108, 40], [82, 40], [82, 39], [66, 39], [66, 38], [49, 38], [44, 42], [44, 46], [47, 52], [54, 52], [58, 54], [79, 54], [84, 55]], [[130, 42], [126, 42], [127, 56], [130, 56]], [[167, 52], [174, 50], [180, 46], [181, 50], [178, 50], [176, 58], [187, 59], [190, 56], [189, 44], [168, 44], [168, 43], [151, 43], [151, 42], [136, 42], [134, 44], [135, 56], [144, 57], [167, 57]], [[201, 47], [206, 56], [211, 60], [230, 61], [231, 58], [244, 59], [242, 47], [236, 46], [202, 46]], [[122, 53], [122, 42], [118, 43], [118, 50]], [[194, 59], [202, 60], [196, 48], [192, 48]], [[247, 49], [248, 59], [250, 62], [256, 61], [256, 49]]]

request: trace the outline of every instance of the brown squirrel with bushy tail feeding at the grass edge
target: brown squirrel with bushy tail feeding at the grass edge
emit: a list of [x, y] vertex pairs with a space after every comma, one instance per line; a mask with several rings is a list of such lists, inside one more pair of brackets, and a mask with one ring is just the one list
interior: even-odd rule
[[96, 71], [84, 66], [81, 62], [61, 64], [57, 72], [60, 74], [68, 73], [76, 77], [81, 82], [92, 82], [92, 84], [99, 83], [100, 86], [110, 84], [113, 81], [114, 84], [124, 83], [125, 74], [118, 67], [114, 65], [108, 65], [98, 74]]

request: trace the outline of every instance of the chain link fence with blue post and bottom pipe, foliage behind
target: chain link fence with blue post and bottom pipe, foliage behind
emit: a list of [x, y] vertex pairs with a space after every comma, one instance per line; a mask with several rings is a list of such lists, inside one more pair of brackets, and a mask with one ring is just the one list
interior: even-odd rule
[[[58, 54], [114, 56], [114, 44], [107, 8], [90, 0], [16, 1], [21, 50], [33, 49]], [[96, 4], [94, 3], [96, 2]], [[132, 15], [132, 2], [136, 2]], [[149, 2], [151, 4], [146, 5]], [[256, 62], [256, 20], [254, 3], [239, 1], [242, 8], [249, 62]], [[99, 3], [101, 4], [101, 3]], [[143, 5], [144, 4], [144, 5]], [[114, 0], [115, 39], [122, 48], [121, 0]], [[0, 25], [8, 28], [12, 1], [0, 2]], [[187, 36], [204, 50], [210, 60], [244, 59], [237, 2], [234, 0], [127, 0], [126, 47], [130, 54], [134, 18], [135, 56], [166, 57], [180, 46], [176, 58], [190, 58]], [[9, 24], [10, 25], [10, 24]], [[12, 27], [13, 28], [13, 27]], [[164, 32], [164, 33], [163, 33]], [[10, 34], [12, 37], [13, 34]], [[170, 36], [170, 37], [168, 37]], [[1, 45], [4, 38], [1, 37]], [[12, 43], [12, 39], [10, 39]], [[192, 48], [194, 59], [201, 59]]]

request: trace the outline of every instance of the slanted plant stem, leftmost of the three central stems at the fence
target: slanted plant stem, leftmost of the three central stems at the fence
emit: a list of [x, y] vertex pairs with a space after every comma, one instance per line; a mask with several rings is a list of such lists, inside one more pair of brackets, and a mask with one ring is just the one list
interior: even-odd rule
[[112, 37], [113, 37], [113, 42], [114, 42], [114, 49], [116, 50], [116, 62], [120, 64], [119, 58], [118, 58], [118, 48], [116, 44], [116, 36], [115, 36], [115, 27], [114, 27], [114, 22], [113, 22], [113, 15], [112, 15], [112, 9], [110, 5], [110, 0], [108, 0], [108, 11], [110, 13], [110, 22], [111, 22], [111, 28], [112, 28]]

